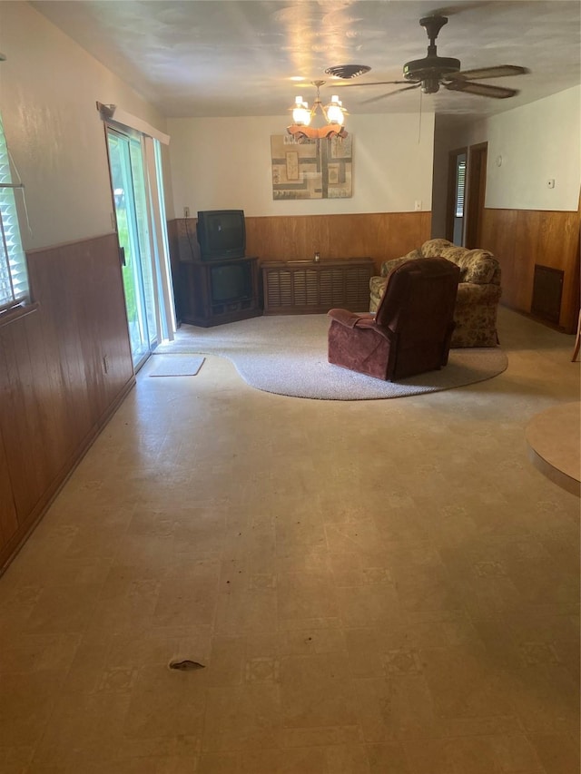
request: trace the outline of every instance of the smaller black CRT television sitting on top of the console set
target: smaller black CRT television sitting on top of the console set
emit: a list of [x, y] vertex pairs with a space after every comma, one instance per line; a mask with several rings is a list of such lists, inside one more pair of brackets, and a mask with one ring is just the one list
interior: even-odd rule
[[244, 257], [246, 224], [242, 210], [200, 211], [196, 229], [202, 260]]

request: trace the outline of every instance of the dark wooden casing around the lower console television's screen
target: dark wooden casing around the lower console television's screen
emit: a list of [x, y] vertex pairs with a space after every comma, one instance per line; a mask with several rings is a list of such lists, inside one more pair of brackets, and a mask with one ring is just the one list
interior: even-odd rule
[[[212, 269], [221, 269], [233, 264], [248, 267], [251, 277], [249, 291], [236, 299], [212, 299]], [[260, 317], [262, 314], [256, 256], [182, 261], [179, 283], [180, 318], [189, 325], [212, 328], [214, 325]]]

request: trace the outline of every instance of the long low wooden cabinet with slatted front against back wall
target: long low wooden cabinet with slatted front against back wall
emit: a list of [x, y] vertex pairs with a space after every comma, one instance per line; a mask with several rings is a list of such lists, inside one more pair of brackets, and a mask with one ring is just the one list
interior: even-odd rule
[[261, 269], [265, 315], [369, 309], [370, 258], [267, 261]]

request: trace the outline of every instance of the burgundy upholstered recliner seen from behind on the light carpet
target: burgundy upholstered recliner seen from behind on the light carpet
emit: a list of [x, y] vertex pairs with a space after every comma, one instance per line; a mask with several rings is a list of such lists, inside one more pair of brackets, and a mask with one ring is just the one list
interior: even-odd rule
[[330, 363], [393, 381], [448, 363], [460, 269], [444, 258], [400, 264], [375, 315], [330, 309]]

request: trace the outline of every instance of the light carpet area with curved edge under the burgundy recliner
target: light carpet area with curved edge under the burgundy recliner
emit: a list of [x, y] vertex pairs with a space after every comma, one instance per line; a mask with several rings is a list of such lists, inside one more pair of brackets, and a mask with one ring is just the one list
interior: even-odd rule
[[378, 400], [463, 387], [501, 374], [508, 365], [500, 348], [451, 349], [448, 366], [417, 377], [384, 382], [327, 361], [327, 315], [273, 315], [215, 328], [183, 325], [160, 354], [229, 358], [251, 387], [291, 397]]

